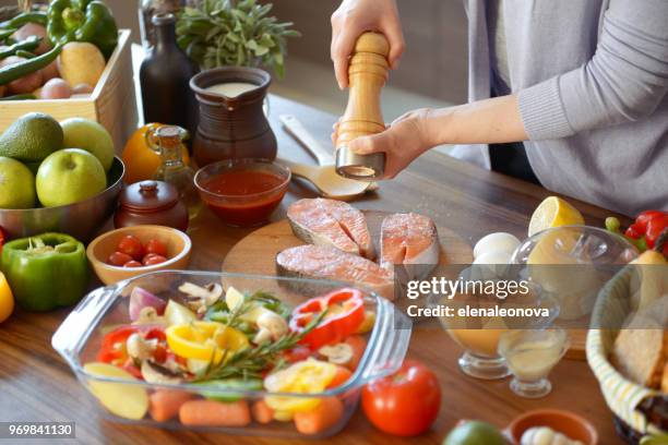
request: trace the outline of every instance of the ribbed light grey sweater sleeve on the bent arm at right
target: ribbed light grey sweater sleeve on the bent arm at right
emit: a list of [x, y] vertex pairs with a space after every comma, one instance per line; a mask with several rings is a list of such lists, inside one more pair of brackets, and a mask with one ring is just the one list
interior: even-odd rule
[[518, 92], [530, 140], [635, 121], [668, 91], [668, 0], [611, 0], [596, 52], [572, 71]]

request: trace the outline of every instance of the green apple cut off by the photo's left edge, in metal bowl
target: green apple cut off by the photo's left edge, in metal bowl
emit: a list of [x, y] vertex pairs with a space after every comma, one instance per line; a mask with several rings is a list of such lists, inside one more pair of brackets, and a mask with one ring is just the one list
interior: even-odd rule
[[16, 159], [0, 156], [0, 208], [33, 208], [35, 176]]

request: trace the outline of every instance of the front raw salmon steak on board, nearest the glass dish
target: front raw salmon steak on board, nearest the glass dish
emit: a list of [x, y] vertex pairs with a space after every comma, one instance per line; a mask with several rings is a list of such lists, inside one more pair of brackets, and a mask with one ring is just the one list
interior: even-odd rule
[[370, 260], [331, 245], [298, 245], [276, 255], [279, 276], [346, 281], [394, 299], [394, 276]]

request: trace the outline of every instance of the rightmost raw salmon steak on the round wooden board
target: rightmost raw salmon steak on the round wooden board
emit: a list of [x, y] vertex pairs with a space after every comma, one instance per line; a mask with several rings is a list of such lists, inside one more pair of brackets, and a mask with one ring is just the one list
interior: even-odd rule
[[415, 278], [431, 273], [439, 264], [439, 234], [430, 218], [407, 213], [383, 219], [380, 257], [383, 268], [394, 272], [394, 266], [402, 264], [406, 266], [408, 277]]

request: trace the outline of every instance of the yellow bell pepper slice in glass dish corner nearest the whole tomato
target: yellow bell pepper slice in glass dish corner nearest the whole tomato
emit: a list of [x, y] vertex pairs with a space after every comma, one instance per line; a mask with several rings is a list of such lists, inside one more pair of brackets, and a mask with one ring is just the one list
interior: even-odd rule
[[[309, 359], [270, 374], [264, 387], [272, 393], [317, 394], [325, 390], [334, 380], [336, 365]], [[314, 397], [266, 396], [265, 402], [276, 412], [308, 412], [318, 408], [321, 400]]]

